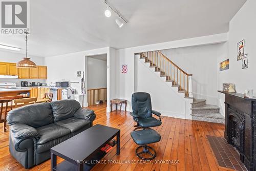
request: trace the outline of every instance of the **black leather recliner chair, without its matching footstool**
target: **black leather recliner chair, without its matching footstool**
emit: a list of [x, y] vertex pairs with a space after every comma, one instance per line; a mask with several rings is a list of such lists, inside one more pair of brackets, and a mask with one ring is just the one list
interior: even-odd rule
[[[144, 92], [134, 93], [132, 95], [132, 109], [133, 112], [130, 114], [133, 116], [136, 127], [155, 127], [162, 124], [161, 113], [152, 110], [150, 94]], [[152, 114], [158, 116], [159, 120], [154, 118]]]

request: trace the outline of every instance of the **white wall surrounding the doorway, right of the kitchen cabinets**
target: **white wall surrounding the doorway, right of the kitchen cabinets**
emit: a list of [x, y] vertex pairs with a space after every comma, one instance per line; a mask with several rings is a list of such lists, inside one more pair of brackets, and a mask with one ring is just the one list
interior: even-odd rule
[[[78, 83], [71, 83], [71, 87], [77, 90], [77, 93], [81, 93], [81, 77], [77, 77], [77, 71], [83, 71], [87, 79], [87, 68], [86, 68], [86, 56], [92, 55], [107, 55], [107, 111], [109, 112], [110, 98], [116, 98], [116, 91], [110, 92], [110, 88], [116, 87], [116, 76], [115, 76], [115, 49], [106, 47], [100, 49], [94, 49], [89, 51], [82, 51], [76, 53], [70, 53], [59, 56], [52, 56], [45, 58], [45, 65], [48, 67], [48, 79], [47, 82], [55, 82], [61, 80], [67, 80]], [[112, 62], [110, 62], [110, 60]], [[112, 71], [114, 70], [114, 71]], [[114, 74], [113, 74], [114, 73]], [[88, 83], [86, 82], [86, 90]], [[83, 100], [83, 106], [87, 106], [87, 94]]]

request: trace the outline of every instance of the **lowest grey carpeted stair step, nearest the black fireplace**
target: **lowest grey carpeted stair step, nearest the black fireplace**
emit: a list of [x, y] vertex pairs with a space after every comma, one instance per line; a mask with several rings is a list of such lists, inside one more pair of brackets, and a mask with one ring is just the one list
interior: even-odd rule
[[199, 120], [205, 122], [225, 123], [225, 117], [220, 113], [212, 114], [191, 114], [192, 120]]

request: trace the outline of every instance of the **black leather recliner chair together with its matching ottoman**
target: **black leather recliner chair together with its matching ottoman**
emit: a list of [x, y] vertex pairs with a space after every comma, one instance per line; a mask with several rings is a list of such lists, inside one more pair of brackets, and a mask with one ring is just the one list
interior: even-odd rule
[[[154, 148], [147, 146], [147, 144], [160, 141], [161, 136], [155, 130], [150, 129], [150, 127], [162, 124], [161, 114], [152, 110], [150, 94], [143, 92], [132, 95], [132, 109], [133, 112], [130, 114], [133, 116], [134, 121], [137, 122], [137, 125], [135, 125], [136, 129], [131, 133], [131, 136], [134, 142], [140, 145], [136, 148], [135, 153], [140, 159], [152, 160], [156, 157], [156, 151]], [[158, 116], [159, 120], [153, 117], [152, 114]], [[139, 152], [141, 148], [143, 150]], [[147, 157], [147, 154], [151, 155], [151, 157]]]

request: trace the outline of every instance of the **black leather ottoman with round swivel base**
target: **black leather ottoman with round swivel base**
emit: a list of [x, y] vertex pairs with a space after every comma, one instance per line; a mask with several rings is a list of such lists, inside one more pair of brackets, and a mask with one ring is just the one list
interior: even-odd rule
[[[155, 149], [150, 146], [147, 146], [147, 144], [160, 141], [161, 136], [155, 130], [147, 129], [147, 130], [133, 131], [131, 133], [131, 136], [134, 142], [140, 145], [139, 147], [136, 148], [136, 152], [135, 152], [140, 159], [152, 160], [157, 156]], [[139, 149], [142, 147], [143, 147], [143, 150], [141, 152], [138, 152]], [[153, 153], [151, 153], [149, 149], [152, 149]], [[142, 157], [142, 155], [145, 155], [145, 154], [149, 154], [152, 157], [150, 158]]]

